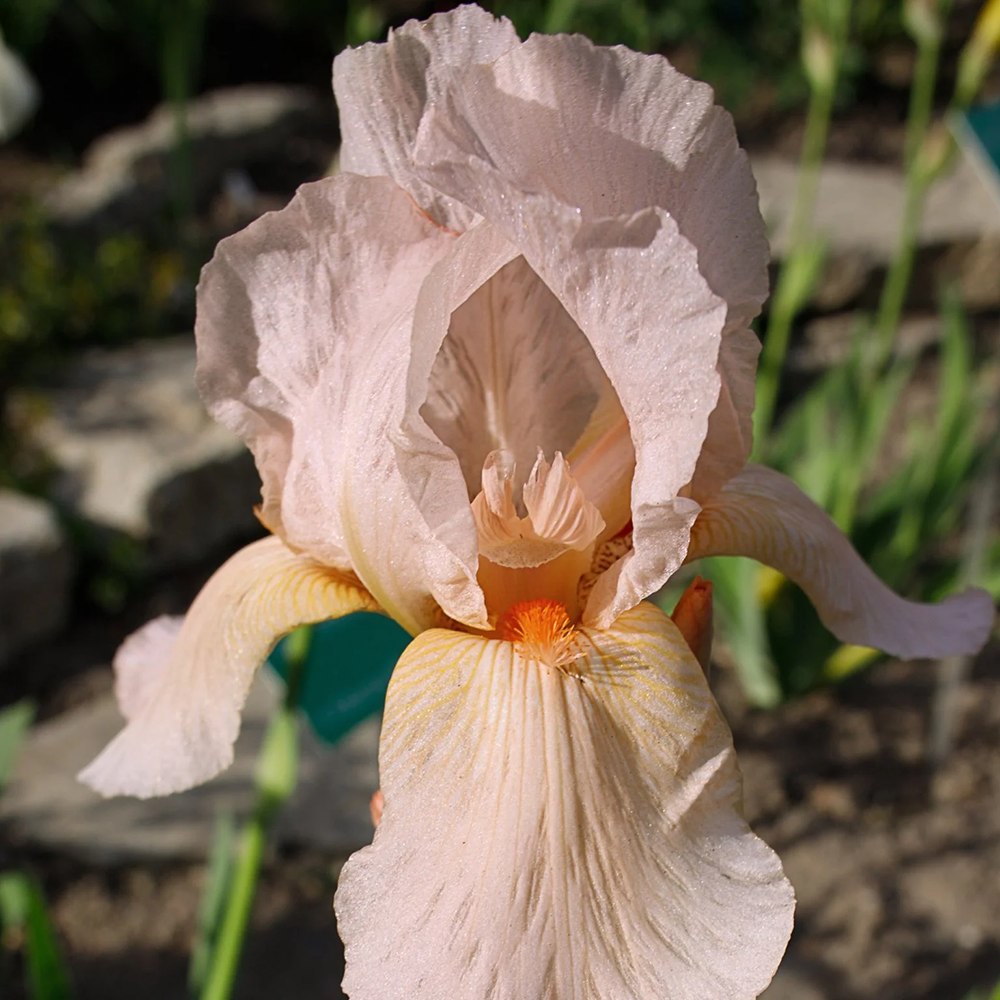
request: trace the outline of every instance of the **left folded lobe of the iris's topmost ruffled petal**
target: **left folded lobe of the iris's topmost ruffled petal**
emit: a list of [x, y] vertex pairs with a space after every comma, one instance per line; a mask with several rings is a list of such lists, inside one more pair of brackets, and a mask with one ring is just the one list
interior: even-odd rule
[[408, 21], [384, 45], [347, 49], [333, 61], [340, 111], [340, 168], [391, 177], [441, 225], [462, 231], [475, 213], [428, 188], [409, 161], [428, 101], [448, 70], [490, 62], [519, 39], [506, 18], [468, 5]]

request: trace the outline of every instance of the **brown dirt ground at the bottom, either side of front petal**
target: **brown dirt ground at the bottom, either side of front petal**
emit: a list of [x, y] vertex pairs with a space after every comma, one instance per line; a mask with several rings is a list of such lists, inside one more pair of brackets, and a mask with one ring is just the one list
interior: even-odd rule
[[[937, 768], [926, 762], [931, 665], [886, 664], [772, 713], [748, 711], [732, 677], [717, 672], [748, 815], [799, 900], [767, 1000], [965, 1000], [1000, 979], [996, 653], [975, 665], [954, 749]], [[79, 1000], [185, 996], [200, 867], [107, 870], [15, 853], [46, 888]], [[342, 996], [331, 907], [342, 861], [270, 858], [239, 1000]], [[7, 972], [15, 964], [8, 951]]]

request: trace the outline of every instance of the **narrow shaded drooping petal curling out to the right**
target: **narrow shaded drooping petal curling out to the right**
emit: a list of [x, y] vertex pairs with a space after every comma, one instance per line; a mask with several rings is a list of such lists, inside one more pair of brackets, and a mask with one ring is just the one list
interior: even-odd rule
[[940, 604], [894, 594], [865, 565], [825, 511], [791, 480], [750, 465], [707, 502], [691, 534], [688, 560], [736, 555], [758, 559], [797, 583], [843, 642], [893, 656], [975, 653], [995, 612], [971, 589]]

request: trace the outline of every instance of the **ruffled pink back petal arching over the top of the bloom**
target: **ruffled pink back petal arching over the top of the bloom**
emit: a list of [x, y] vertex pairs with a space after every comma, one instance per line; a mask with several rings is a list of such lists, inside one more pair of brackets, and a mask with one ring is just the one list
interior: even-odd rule
[[742, 468], [757, 350], [747, 327], [767, 295], [768, 249], [746, 155], [710, 88], [659, 56], [579, 36], [518, 45], [506, 22], [469, 7], [345, 53], [335, 81], [348, 169], [388, 173], [453, 228], [488, 215], [476, 168], [502, 179], [515, 214], [529, 194], [591, 219], [669, 213], [727, 307], [693, 495]]

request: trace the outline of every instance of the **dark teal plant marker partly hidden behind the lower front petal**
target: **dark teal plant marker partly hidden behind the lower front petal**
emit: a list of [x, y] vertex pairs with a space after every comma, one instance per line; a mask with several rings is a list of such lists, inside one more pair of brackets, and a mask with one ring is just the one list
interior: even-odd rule
[[[278, 644], [271, 665], [285, 680], [296, 651]], [[362, 719], [380, 711], [393, 667], [410, 635], [391, 618], [359, 611], [312, 626], [298, 704], [316, 735], [334, 743]]]

